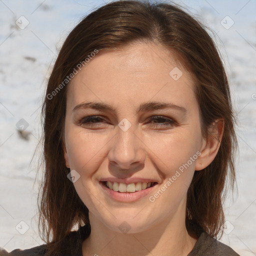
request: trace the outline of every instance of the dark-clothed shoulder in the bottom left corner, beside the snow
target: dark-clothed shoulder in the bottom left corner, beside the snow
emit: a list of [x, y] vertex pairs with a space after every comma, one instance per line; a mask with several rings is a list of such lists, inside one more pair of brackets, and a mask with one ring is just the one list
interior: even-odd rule
[[30, 249], [14, 249], [10, 252], [0, 248], [0, 256], [42, 256], [46, 253], [47, 245], [42, 244]]

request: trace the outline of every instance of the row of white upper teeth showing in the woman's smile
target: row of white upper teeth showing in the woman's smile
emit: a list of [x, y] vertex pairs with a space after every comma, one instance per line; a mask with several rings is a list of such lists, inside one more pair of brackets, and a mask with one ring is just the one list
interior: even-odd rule
[[119, 183], [112, 181], [101, 181], [107, 188], [120, 193], [134, 193], [136, 191], [145, 190], [149, 187], [155, 186], [157, 182], [136, 182], [136, 183]]

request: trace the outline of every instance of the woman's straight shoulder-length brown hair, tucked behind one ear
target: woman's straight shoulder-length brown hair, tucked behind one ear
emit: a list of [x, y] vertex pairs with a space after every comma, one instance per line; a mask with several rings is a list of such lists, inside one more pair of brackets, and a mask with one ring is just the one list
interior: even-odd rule
[[[88, 226], [88, 209], [67, 178], [62, 149], [66, 109], [65, 78], [97, 49], [114, 50], [135, 41], [154, 42], [177, 53], [194, 76], [200, 108], [202, 134], [214, 120], [222, 118], [224, 131], [214, 160], [195, 171], [187, 191], [186, 227], [197, 236], [221, 233], [224, 221], [223, 189], [233, 165], [236, 136], [226, 74], [216, 47], [203, 25], [180, 7], [167, 3], [115, 1], [99, 7], [81, 20], [64, 41], [48, 80], [42, 108], [44, 179], [38, 196], [39, 229], [49, 252], [61, 248], [61, 240], [75, 226]], [[56, 88], [61, 84], [61, 89]], [[58, 87], [60, 88], [60, 87]], [[56, 93], [53, 95], [53, 91]]]

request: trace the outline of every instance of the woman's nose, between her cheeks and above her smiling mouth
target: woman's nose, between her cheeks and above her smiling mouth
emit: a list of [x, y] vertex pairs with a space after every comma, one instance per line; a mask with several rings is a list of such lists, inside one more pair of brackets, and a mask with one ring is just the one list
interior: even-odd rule
[[134, 172], [143, 168], [144, 144], [132, 126], [126, 131], [116, 126], [117, 134], [113, 137], [108, 152], [110, 170]]

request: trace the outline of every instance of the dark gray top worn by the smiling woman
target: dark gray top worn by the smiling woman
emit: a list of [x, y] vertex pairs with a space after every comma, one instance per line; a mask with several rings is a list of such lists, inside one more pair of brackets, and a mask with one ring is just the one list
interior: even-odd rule
[[[70, 232], [64, 241], [65, 249], [59, 256], [82, 256], [82, 241], [87, 234], [83, 227], [77, 231]], [[30, 249], [14, 249], [7, 252], [0, 248], [0, 256], [43, 256], [46, 252], [47, 245], [42, 244]], [[201, 233], [193, 249], [187, 256], [239, 256], [229, 246], [217, 241], [206, 233]]]

